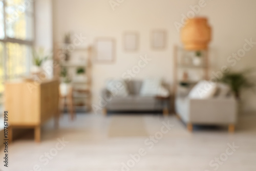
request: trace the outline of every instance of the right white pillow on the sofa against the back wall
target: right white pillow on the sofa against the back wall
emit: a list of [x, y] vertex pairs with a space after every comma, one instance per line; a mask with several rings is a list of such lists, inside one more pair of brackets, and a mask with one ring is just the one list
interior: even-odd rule
[[161, 87], [160, 78], [146, 78], [142, 82], [140, 89], [141, 96], [157, 96]]

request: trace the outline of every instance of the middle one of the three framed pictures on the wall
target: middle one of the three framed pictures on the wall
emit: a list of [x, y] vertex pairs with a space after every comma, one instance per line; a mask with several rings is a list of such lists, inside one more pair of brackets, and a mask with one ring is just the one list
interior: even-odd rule
[[125, 32], [123, 35], [123, 44], [125, 51], [137, 51], [139, 49], [139, 34], [137, 32]]

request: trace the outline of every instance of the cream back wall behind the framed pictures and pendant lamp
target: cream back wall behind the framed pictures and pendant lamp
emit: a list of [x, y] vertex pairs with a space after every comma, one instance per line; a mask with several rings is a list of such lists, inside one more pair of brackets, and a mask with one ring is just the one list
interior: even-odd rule
[[[116, 0], [115, 0], [116, 1]], [[119, 6], [113, 10], [108, 0], [54, 0], [54, 40], [61, 42], [69, 31], [87, 37], [86, 44], [93, 44], [96, 37], [116, 39], [116, 60], [114, 63], [93, 64], [93, 103], [107, 78], [120, 78], [127, 69], [137, 65], [140, 55], [152, 59], [135, 79], [162, 77], [173, 82], [173, 45], [180, 44], [179, 33], [174, 23], [181, 22], [182, 14], [191, 11], [190, 5], [198, 1], [178, 0], [119, 0]], [[243, 48], [244, 39], [256, 41], [256, 1], [254, 0], [214, 0], [205, 1], [199, 15], [207, 16], [212, 26], [212, 57], [215, 70], [223, 65], [229, 66], [227, 57]], [[168, 32], [167, 48], [164, 51], [152, 51], [150, 33], [154, 29]], [[140, 35], [139, 51], [123, 51], [122, 34], [125, 31], [137, 31]], [[246, 53], [233, 69], [255, 67], [256, 47]], [[256, 95], [245, 93], [245, 110], [256, 110]]]

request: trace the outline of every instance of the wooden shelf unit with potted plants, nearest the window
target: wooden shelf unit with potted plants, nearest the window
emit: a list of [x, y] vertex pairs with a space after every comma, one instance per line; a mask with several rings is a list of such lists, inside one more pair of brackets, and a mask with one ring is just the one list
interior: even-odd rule
[[[75, 47], [69, 50], [72, 44], [56, 44], [55, 59], [58, 67], [55, 76], [60, 78], [60, 71], [65, 68], [72, 86], [72, 98], [75, 111], [91, 111], [91, 85], [92, 85], [92, 48]], [[66, 56], [68, 54], [68, 57]], [[77, 74], [83, 69], [84, 74]]]

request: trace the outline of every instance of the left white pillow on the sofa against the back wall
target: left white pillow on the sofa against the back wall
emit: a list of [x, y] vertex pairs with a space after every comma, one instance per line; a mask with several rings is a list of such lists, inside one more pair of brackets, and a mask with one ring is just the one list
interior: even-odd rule
[[126, 97], [129, 95], [126, 83], [122, 79], [108, 80], [106, 83], [106, 90], [116, 97]]

